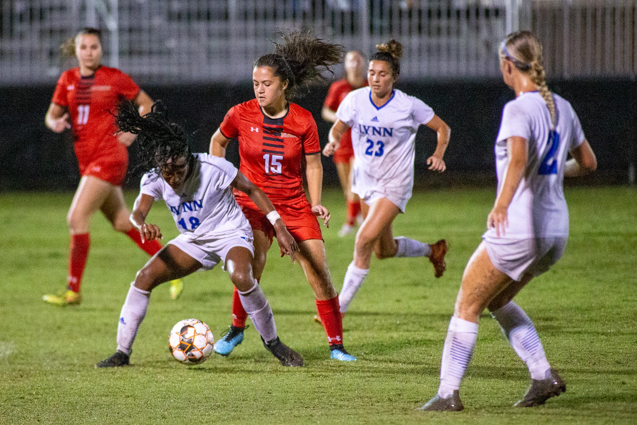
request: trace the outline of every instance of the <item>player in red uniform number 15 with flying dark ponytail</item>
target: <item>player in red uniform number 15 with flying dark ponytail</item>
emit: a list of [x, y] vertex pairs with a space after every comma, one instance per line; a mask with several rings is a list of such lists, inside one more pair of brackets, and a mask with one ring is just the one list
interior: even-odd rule
[[[354, 361], [343, 347], [343, 322], [338, 294], [327, 268], [325, 245], [317, 217], [327, 226], [330, 214], [321, 205], [323, 168], [320, 162], [317, 125], [312, 115], [290, 102], [310, 83], [322, 80], [321, 71], [340, 61], [343, 48], [306, 33], [282, 34], [276, 53], [254, 63], [252, 82], [256, 99], [233, 106], [210, 141], [210, 152], [225, 156], [230, 140], [239, 141], [240, 171], [254, 182], [275, 205], [290, 234], [299, 245], [298, 259], [315, 294], [317, 312], [322, 319], [331, 350], [330, 357]], [[302, 162], [310, 202], [303, 191]], [[240, 191], [234, 196], [254, 233], [254, 276], [261, 278], [266, 254], [278, 230], [257, 205]], [[279, 240], [280, 243], [280, 240]], [[214, 350], [228, 356], [243, 342], [246, 313], [238, 292], [233, 296], [233, 324]]]

